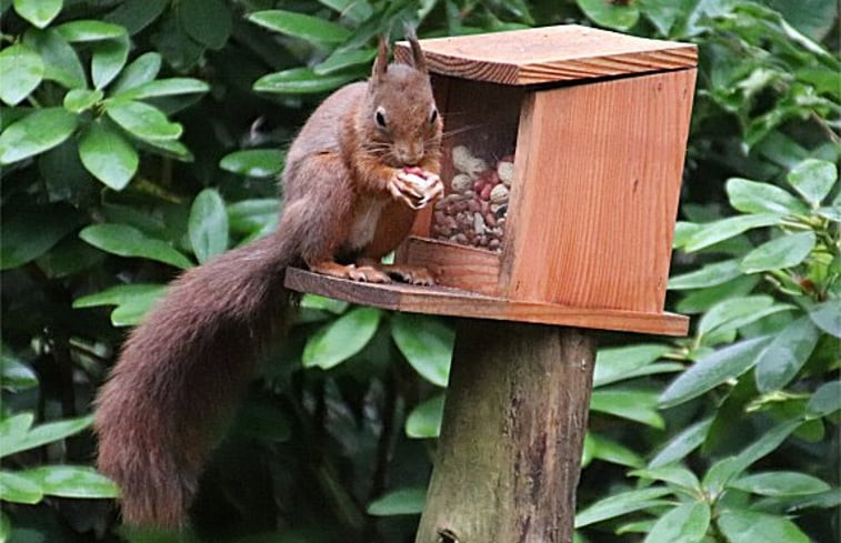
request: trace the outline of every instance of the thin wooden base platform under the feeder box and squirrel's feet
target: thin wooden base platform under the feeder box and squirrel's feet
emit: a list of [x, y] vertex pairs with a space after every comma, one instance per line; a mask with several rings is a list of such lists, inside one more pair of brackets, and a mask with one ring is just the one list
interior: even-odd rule
[[347, 279], [328, 278], [297, 268], [287, 270], [286, 286], [297, 292], [309, 292], [362, 305], [410, 313], [663, 335], [685, 335], [689, 329], [689, 319], [673, 313], [598, 310], [571, 308], [557, 303], [512, 301], [448, 286], [359, 283]]

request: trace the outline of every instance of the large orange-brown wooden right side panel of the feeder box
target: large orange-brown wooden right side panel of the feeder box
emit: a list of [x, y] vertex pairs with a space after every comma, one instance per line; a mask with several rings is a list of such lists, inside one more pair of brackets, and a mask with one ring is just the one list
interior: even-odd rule
[[530, 93], [503, 296], [662, 311], [695, 70]]

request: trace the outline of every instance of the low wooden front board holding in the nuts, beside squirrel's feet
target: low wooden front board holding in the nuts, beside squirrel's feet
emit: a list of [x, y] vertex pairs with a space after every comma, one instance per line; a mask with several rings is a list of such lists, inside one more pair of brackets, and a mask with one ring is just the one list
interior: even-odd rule
[[406, 241], [404, 261], [424, 265], [438, 284], [498, 296], [499, 255], [482, 249], [443, 241], [410, 238]]

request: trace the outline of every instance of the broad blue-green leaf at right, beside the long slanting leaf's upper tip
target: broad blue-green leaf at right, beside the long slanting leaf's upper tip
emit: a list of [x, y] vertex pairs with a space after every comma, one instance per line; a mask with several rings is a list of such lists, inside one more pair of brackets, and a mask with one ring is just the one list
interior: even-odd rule
[[757, 388], [760, 392], [782, 389], [794, 379], [809, 360], [820, 339], [820, 331], [801, 316], [775, 334], [757, 359]]

